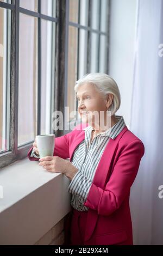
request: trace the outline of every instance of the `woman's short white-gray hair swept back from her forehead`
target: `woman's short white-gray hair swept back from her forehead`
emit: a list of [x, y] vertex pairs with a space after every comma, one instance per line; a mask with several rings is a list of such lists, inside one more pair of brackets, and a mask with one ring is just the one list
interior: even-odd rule
[[113, 94], [111, 103], [112, 107], [109, 108], [109, 110], [111, 111], [111, 115], [114, 115], [117, 112], [121, 105], [121, 94], [117, 83], [112, 77], [104, 73], [86, 74], [76, 82], [74, 90], [77, 92], [79, 86], [82, 86], [84, 83], [92, 83], [99, 90], [99, 92], [104, 94], [104, 96], [109, 93]]

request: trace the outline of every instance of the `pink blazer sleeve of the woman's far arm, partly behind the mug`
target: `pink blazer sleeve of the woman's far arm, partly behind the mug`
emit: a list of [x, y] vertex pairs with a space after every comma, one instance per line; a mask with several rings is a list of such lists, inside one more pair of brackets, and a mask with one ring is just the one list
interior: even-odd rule
[[[69, 154], [69, 141], [68, 136], [70, 133], [67, 133], [66, 135], [60, 136], [55, 138], [55, 148], [53, 156], [59, 156], [62, 159], [68, 159], [70, 157]], [[32, 154], [33, 148], [30, 148], [28, 151], [28, 158], [30, 161], [38, 161], [39, 158], [30, 156]]]

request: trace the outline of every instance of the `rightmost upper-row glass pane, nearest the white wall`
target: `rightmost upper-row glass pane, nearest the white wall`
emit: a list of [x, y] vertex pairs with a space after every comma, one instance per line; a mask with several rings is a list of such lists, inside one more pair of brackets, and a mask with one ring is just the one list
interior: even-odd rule
[[102, 32], [108, 33], [108, 19], [109, 16], [109, 1], [101, 1], [101, 26], [100, 29]]

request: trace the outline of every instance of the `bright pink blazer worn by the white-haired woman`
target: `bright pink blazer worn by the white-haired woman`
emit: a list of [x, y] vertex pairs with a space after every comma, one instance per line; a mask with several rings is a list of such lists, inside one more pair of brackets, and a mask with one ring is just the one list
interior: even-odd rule
[[[84, 137], [83, 130], [73, 130], [55, 138], [54, 156], [71, 161]], [[28, 157], [34, 161], [36, 159], [30, 157], [31, 150]], [[89, 207], [85, 245], [91, 245], [95, 237], [97, 245], [133, 244], [129, 195], [144, 153], [142, 141], [127, 126], [115, 139], [110, 138], [84, 203]]]

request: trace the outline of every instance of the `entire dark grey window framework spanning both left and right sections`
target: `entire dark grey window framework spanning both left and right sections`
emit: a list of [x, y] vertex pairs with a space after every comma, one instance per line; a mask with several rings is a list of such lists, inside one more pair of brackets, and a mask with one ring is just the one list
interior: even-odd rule
[[[80, 13], [79, 0], [79, 13]], [[19, 58], [19, 19], [20, 13], [37, 17], [38, 22], [38, 94], [37, 94], [37, 135], [40, 134], [41, 125], [41, 19], [55, 22], [55, 85], [52, 85], [52, 111], [61, 111], [65, 114], [64, 107], [67, 106], [67, 76], [68, 76], [68, 28], [69, 26], [77, 27], [78, 29], [85, 29], [88, 32], [87, 51], [89, 57], [87, 58], [86, 70], [90, 69], [90, 36], [91, 32], [107, 36], [107, 61], [106, 72], [109, 73], [109, 30], [110, 30], [110, 0], [108, 0], [108, 31], [102, 32], [97, 29], [92, 29], [90, 26], [91, 21], [91, 4], [89, 1], [89, 23], [88, 26], [83, 26], [78, 23], [69, 21], [69, 0], [56, 0], [56, 17], [41, 14], [41, 0], [38, 0], [37, 12], [30, 11], [20, 7], [20, 0], [11, 0], [11, 4], [0, 1], [0, 7], [11, 10], [11, 65], [10, 65], [10, 150], [0, 154], [0, 169], [8, 166], [9, 164], [24, 159], [27, 157], [28, 150], [32, 147], [33, 141], [24, 144], [20, 147], [17, 146], [18, 138], [18, 58]], [[100, 6], [101, 6], [101, 0]], [[99, 15], [101, 20], [101, 13]], [[79, 33], [78, 33], [79, 44]], [[78, 45], [79, 48], [79, 45]], [[99, 56], [99, 54], [98, 54]], [[79, 58], [77, 60], [79, 62]], [[79, 64], [78, 64], [79, 66]], [[98, 64], [99, 66], [99, 64]], [[77, 72], [77, 77], [79, 72]], [[78, 106], [76, 104], [77, 110]], [[54, 133], [54, 131], [53, 131]], [[61, 130], [55, 131], [55, 136], [62, 136], [65, 132]]]

